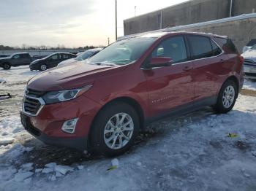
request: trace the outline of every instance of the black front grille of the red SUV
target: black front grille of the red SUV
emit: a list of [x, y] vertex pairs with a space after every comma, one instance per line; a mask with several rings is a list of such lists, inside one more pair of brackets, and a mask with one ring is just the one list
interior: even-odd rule
[[24, 101], [23, 101], [24, 112], [35, 115], [37, 114], [40, 107], [41, 107], [41, 103], [38, 99], [29, 98], [26, 96], [24, 97]]

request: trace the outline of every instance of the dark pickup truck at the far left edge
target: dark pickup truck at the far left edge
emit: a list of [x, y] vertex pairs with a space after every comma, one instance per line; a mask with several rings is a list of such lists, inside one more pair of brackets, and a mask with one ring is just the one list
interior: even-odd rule
[[0, 66], [4, 69], [10, 69], [11, 66], [29, 65], [34, 58], [27, 52], [18, 52], [5, 58], [0, 58]]

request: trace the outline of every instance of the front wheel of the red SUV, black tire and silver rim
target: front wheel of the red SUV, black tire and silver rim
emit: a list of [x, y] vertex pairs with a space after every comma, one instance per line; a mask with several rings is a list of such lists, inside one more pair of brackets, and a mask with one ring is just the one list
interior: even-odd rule
[[91, 152], [113, 157], [126, 152], [135, 141], [139, 117], [129, 104], [113, 102], [102, 109], [91, 129]]

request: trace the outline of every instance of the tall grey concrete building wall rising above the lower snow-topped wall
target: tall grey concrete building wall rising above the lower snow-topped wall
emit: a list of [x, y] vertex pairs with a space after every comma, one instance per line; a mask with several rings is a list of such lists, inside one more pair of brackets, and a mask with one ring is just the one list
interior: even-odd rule
[[[233, 0], [233, 16], [252, 12], [256, 12], [256, 0]], [[124, 20], [124, 35], [217, 20], [229, 15], [230, 0], [187, 1]]]

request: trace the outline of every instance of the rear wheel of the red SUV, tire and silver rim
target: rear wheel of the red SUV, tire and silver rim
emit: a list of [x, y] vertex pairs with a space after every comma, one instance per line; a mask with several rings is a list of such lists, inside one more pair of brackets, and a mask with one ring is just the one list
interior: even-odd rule
[[225, 114], [233, 109], [236, 104], [236, 98], [238, 97], [238, 87], [233, 80], [227, 80], [219, 91], [217, 104], [214, 106], [214, 110], [217, 113]]

